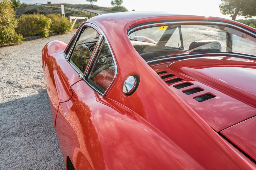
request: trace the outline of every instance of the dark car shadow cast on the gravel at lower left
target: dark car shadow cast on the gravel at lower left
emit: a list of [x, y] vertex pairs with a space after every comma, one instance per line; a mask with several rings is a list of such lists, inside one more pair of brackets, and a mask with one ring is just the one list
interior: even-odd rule
[[65, 169], [46, 90], [0, 103], [0, 169]]

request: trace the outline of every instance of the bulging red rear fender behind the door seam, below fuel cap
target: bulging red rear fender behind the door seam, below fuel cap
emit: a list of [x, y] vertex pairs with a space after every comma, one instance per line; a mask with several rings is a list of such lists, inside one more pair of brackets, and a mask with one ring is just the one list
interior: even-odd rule
[[109, 104], [84, 81], [72, 91], [73, 105], [65, 115], [58, 113], [56, 121], [63, 155], [75, 146], [95, 169], [203, 169], [174, 142], [124, 114], [129, 110]]

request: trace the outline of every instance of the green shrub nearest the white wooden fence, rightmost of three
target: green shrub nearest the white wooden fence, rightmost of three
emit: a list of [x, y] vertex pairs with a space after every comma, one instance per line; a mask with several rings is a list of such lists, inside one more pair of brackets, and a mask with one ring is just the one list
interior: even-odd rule
[[68, 31], [71, 31], [72, 24], [66, 17], [61, 17], [60, 14], [48, 14], [48, 18], [51, 19], [51, 28], [50, 32], [57, 32], [58, 34], [65, 34]]

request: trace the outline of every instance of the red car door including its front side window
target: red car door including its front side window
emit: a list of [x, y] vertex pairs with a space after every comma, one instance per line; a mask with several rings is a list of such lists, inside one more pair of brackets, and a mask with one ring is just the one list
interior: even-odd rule
[[[87, 24], [77, 31], [64, 53], [60, 51], [48, 56], [49, 59], [44, 67], [44, 75], [54, 125], [59, 103], [71, 99], [71, 86], [81, 80], [91, 52], [100, 35], [97, 28], [90, 26], [93, 25]], [[88, 37], [90, 34], [93, 34], [93, 37]], [[88, 38], [91, 39], [86, 40]], [[86, 43], [83, 43], [82, 40], [86, 40]], [[62, 42], [59, 41], [58, 43]]]

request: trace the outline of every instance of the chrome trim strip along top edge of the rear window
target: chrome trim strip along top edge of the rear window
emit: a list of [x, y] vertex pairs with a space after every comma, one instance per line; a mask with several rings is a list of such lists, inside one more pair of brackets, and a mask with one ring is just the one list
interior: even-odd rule
[[[129, 36], [131, 33], [133, 33], [134, 31], [138, 30], [138, 29], [142, 29], [142, 28], [146, 28], [146, 27], [154, 27], [154, 26], [161, 26], [161, 25], [176, 25], [176, 24], [182, 24], [182, 25], [191, 25], [191, 24], [218, 24], [218, 25], [226, 25], [226, 26], [231, 26], [234, 28], [237, 28], [239, 30], [241, 30], [241, 27], [238, 27], [237, 25], [234, 24], [230, 24], [230, 23], [223, 23], [223, 22], [214, 22], [214, 21], [175, 21], [175, 22], [163, 22], [161, 23], [161, 21], [159, 21], [160, 23], [154, 23], [154, 24], [146, 24], [146, 25], [142, 25], [142, 26], [138, 26], [135, 27], [133, 29], [131, 29], [127, 35]], [[248, 34], [251, 34], [254, 36], [254, 38], [256, 38], [256, 34], [248, 31], [247, 29], [242, 29], [242, 32], [246, 32]]]

